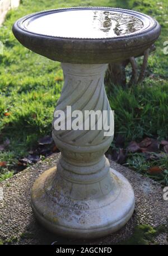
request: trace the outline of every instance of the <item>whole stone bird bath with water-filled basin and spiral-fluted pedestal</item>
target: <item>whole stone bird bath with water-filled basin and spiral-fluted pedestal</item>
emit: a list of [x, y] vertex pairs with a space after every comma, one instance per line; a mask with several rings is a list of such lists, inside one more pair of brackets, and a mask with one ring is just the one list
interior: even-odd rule
[[[69, 117], [67, 106], [71, 106], [72, 111], [106, 110], [109, 115], [106, 63], [143, 53], [160, 35], [160, 25], [134, 11], [77, 7], [22, 17], [13, 25], [13, 34], [33, 52], [62, 62], [64, 86], [55, 111]], [[36, 218], [64, 236], [96, 238], [115, 232], [133, 214], [134, 193], [104, 155], [113, 134], [105, 136], [104, 128], [93, 131], [91, 126], [68, 129], [68, 121], [66, 129], [57, 131], [57, 118], [54, 114], [53, 139], [61, 157], [57, 167], [46, 170], [32, 188]]]

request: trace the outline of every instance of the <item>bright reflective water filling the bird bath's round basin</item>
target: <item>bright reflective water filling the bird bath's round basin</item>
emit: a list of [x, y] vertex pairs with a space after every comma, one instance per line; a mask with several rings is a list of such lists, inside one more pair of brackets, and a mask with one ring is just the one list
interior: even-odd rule
[[25, 21], [25, 29], [36, 34], [65, 38], [115, 38], [143, 27], [140, 18], [110, 10], [49, 12]]

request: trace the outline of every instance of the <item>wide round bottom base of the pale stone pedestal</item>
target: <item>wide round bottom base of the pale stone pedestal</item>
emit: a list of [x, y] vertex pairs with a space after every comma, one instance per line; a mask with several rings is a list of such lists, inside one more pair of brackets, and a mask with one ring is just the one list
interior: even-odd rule
[[[38, 221], [46, 229], [71, 238], [94, 239], [119, 230], [134, 211], [134, 192], [125, 177], [110, 168], [114, 189], [105, 196], [83, 201], [50, 196], [53, 167], [35, 181], [31, 206]], [[58, 193], [57, 193], [58, 194]], [[69, 202], [68, 202], [69, 200]]]

